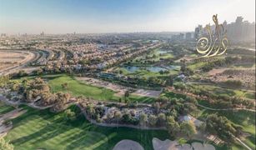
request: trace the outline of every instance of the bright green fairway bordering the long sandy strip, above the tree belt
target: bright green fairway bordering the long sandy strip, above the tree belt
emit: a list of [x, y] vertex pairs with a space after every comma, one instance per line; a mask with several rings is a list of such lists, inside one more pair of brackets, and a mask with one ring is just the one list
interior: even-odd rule
[[[47, 80], [51, 90], [53, 92], [69, 92], [73, 96], [83, 96], [83, 97], [91, 97], [95, 100], [102, 100], [102, 101], [113, 101], [118, 102], [119, 98], [124, 99], [123, 97], [118, 97], [114, 91], [104, 88], [104, 87], [96, 87], [85, 82], [78, 81], [75, 77], [68, 76], [66, 74], [54, 74], [54, 75], [43, 75], [40, 76], [43, 79]], [[32, 79], [33, 77], [22, 77], [21, 79], [16, 79], [16, 81], [21, 82], [22, 79]], [[67, 82], [68, 88], [63, 88], [62, 84]], [[152, 103], [154, 102], [154, 97], [141, 97], [138, 95], [130, 94], [128, 97], [131, 102], [145, 102], [145, 103]], [[0, 105], [1, 107], [1, 105]], [[0, 110], [1, 112], [1, 110]]]

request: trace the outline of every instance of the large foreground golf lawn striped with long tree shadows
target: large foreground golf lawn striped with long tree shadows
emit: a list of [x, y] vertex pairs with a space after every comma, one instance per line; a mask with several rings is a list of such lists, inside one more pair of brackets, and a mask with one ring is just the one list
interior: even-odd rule
[[48, 110], [28, 110], [22, 116], [13, 119], [13, 129], [7, 139], [15, 149], [112, 149], [123, 139], [141, 143], [145, 149], [153, 149], [152, 139], [166, 139], [166, 131], [146, 131], [132, 128], [103, 128], [88, 122], [78, 107], [71, 107], [78, 117], [66, 121], [63, 112], [53, 113]]

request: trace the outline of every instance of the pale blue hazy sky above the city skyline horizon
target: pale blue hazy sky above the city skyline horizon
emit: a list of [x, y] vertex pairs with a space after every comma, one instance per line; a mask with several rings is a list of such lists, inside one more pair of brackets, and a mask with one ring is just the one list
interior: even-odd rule
[[0, 33], [191, 32], [255, 22], [255, 0], [0, 0]]

